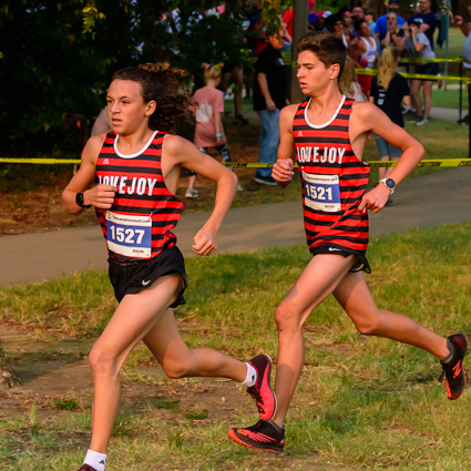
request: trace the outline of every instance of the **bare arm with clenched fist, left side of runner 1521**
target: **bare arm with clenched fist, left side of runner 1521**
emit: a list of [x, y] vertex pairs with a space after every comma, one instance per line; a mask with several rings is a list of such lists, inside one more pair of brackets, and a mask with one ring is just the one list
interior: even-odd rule
[[290, 104], [279, 112], [279, 146], [277, 161], [273, 165], [272, 176], [281, 188], [288, 186], [295, 174], [293, 172], [295, 158], [293, 119], [297, 109], [297, 104]]

